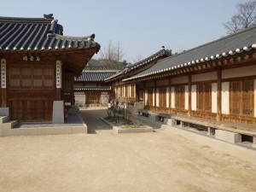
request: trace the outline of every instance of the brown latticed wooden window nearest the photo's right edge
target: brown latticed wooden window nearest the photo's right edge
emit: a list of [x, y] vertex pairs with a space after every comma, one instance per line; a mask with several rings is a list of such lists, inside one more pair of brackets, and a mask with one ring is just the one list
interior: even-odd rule
[[230, 113], [235, 115], [253, 114], [253, 81], [230, 82]]

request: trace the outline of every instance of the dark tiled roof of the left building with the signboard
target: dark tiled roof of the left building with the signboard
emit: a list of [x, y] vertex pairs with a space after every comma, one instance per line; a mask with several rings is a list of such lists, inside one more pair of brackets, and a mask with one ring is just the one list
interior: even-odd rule
[[63, 27], [57, 22], [52, 15], [44, 15], [44, 18], [0, 17], [0, 51], [100, 49], [100, 45], [94, 42], [94, 34], [63, 36]]

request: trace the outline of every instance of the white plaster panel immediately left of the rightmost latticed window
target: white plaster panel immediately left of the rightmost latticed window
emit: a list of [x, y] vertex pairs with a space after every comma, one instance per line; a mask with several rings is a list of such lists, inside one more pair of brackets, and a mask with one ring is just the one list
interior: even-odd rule
[[230, 113], [230, 83], [223, 82], [221, 84], [221, 113], [229, 114]]

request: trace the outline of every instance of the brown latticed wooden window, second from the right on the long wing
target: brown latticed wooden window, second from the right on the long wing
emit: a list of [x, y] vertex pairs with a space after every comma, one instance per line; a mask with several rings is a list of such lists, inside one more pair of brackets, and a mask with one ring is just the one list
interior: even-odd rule
[[211, 108], [211, 84], [197, 84], [197, 109], [201, 111], [211, 111]]

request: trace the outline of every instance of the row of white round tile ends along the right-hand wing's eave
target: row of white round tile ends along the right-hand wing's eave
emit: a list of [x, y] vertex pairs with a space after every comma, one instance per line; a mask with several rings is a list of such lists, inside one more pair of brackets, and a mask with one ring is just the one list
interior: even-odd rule
[[227, 50], [227, 51], [225, 51], [223, 53], [220, 53], [220, 54], [217, 54], [217, 55], [209, 55], [205, 58], [198, 58], [197, 60], [188, 61], [188, 62], [185, 62], [185, 63], [180, 63], [180, 64], [177, 64], [175, 66], [162, 68], [160, 70], [153, 71], [153, 72], [150, 72], [150, 73], [144, 73], [142, 75], [132, 76], [131, 78], [123, 79], [122, 81], [141, 79], [141, 78], [145, 78], [145, 77], [155, 75], [155, 74], [166, 73], [168, 71], [176, 70], [178, 68], [189, 67], [191, 65], [200, 64], [200, 63], [203, 63], [203, 62], [214, 61], [214, 60], [217, 60], [217, 59], [221, 59], [222, 57], [226, 57], [226, 56], [229, 56], [229, 55], [240, 54], [244, 51], [249, 51], [251, 49], [256, 49], [256, 44], [252, 44], [250, 46], [244, 46], [243, 48], [240, 48], [240, 49], [237, 48], [237, 49], [234, 49], [234, 50]]

